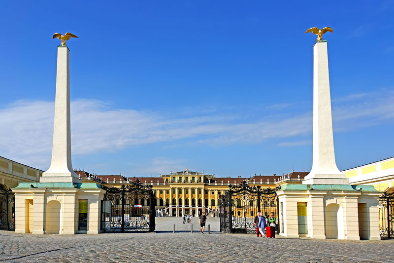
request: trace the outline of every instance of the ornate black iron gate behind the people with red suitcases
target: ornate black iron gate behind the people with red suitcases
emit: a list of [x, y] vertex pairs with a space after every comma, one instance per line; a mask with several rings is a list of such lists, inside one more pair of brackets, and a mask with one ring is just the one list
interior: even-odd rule
[[250, 186], [245, 181], [239, 185], [230, 185], [230, 190], [221, 195], [220, 231], [226, 233], [256, 233], [253, 225], [257, 212], [269, 216], [274, 212], [276, 217], [276, 232], [279, 233], [279, 207], [276, 191], [277, 188], [261, 188]]

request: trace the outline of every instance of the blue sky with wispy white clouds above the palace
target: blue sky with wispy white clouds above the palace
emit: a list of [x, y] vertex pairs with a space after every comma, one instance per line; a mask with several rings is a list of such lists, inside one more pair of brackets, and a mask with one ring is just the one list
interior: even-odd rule
[[70, 32], [74, 168], [309, 171], [310, 27], [327, 33], [335, 157], [394, 156], [394, 1], [4, 1], [0, 155], [46, 170], [56, 32]]

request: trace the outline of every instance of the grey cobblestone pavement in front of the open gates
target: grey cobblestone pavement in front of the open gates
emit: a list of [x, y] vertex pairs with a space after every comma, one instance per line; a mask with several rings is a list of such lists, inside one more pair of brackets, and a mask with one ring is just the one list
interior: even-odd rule
[[32, 235], [0, 231], [0, 262], [394, 262], [394, 240], [267, 239], [252, 234], [201, 234], [199, 227], [190, 233], [190, 225], [185, 225], [189, 232], [172, 233], [171, 227], [164, 227], [172, 226], [169, 222], [159, 221], [163, 231], [158, 233]]

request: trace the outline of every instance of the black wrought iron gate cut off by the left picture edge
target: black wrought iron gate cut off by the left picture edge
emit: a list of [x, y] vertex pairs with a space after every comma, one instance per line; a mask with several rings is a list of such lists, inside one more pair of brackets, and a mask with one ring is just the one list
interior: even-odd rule
[[0, 229], [15, 230], [15, 194], [0, 185]]

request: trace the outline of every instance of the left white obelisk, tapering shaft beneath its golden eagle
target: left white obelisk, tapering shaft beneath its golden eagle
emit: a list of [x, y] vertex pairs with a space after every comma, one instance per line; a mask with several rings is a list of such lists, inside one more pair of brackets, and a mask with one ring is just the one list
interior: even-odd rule
[[40, 183], [79, 183], [71, 165], [69, 50], [58, 46], [52, 161]]

